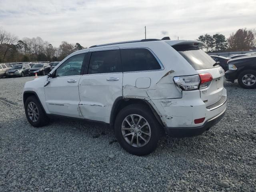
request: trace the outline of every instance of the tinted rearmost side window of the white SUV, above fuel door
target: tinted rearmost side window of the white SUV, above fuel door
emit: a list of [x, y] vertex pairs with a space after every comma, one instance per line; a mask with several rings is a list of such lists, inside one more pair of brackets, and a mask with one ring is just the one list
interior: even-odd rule
[[161, 69], [154, 55], [145, 48], [121, 49], [124, 72]]

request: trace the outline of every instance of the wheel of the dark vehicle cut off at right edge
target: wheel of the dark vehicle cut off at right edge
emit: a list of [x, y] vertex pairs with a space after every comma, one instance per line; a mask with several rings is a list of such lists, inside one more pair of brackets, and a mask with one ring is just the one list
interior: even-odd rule
[[256, 87], [256, 71], [245, 70], [238, 76], [238, 83], [240, 86], [246, 89], [252, 89]]

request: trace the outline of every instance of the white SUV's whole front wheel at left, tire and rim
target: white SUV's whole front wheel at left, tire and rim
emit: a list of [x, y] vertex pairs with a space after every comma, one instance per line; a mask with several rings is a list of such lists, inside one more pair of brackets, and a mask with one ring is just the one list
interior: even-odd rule
[[36, 96], [29, 96], [24, 107], [28, 122], [32, 126], [42, 127], [49, 123], [49, 118], [46, 116]]

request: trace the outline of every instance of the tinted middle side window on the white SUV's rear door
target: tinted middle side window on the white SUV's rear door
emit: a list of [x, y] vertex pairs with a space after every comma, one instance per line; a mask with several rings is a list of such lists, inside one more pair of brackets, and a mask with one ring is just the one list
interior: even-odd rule
[[122, 72], [119, 50], [92, 52], [88, 74]]

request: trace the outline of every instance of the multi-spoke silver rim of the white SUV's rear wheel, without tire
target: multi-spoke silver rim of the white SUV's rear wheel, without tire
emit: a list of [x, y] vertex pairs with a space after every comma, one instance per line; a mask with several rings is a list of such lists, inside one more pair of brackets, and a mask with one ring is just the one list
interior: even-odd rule
[[124, 140], [134, 147], [145, 146], [151, 137], [148, 121], [138, 114], [126, 116], [122, 122], [121, 129]]

